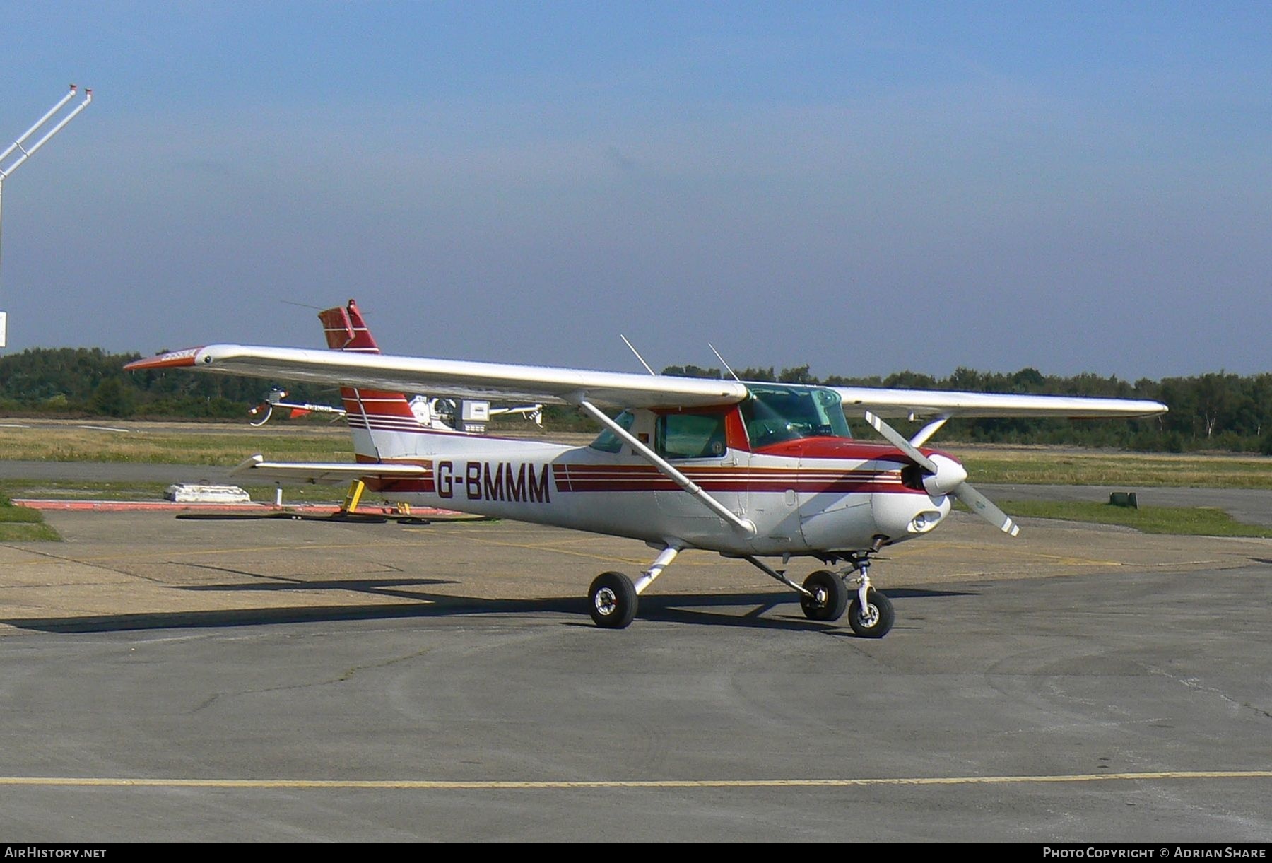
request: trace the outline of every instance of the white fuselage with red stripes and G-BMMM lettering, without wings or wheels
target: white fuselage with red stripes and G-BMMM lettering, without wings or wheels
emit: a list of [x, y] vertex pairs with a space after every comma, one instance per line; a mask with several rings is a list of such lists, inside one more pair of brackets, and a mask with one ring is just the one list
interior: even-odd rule
[[[775, 391], [795, 392], [792, 387]], [[810, 388], [803, 388], [810, 389]], [[818, 391], [824, 392], [824, 391]], [[383, 393], [389, 395], [389, 393]], [[827, 407], [842, 411], [837, 397]], [[776, 398], [771, 400], [777, 402]], [[359, 405], [368, 405], [365, 411]], [[351, 401], [347, 420], [368, 484], [392, 500], [555, 524], [730, 555], [824, 555], [901, 542], [949, 514], [948, 496], [903, 475], [911, 462], [887, 444], [845, 437], [840, 421], [795, 425], [739, 405], [627, 411], [619, 421], [695, 485], [754, 526], [711, 512], [612, 434], [591, 446], [525, 442], [425, 428]], [[759, 438], [759, 446], [756, 446]], [[764, 440], [772, 438], [771, 440]], [[378, 479], [375, 462], [425, 468]]]

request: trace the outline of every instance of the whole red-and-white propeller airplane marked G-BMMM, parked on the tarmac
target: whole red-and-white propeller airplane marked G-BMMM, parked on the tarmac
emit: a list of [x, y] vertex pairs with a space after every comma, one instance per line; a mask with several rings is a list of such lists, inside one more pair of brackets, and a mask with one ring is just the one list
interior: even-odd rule
[[[689, 549], [747, 560], [799, 593], [813, 620], [845, 610], [859, 635], [893, 624], [871, 587], [871, 558], [926, 536], [958, 499], [995, 527], [1019, 528], [967, 482], [953, 457], [923, 444], [955, 416], [1150, 416], [1154, 401], [985, 395], [474, 363], [379, 353], [354, 300], [318, 316], [332, 350], [209, 345], [130, 363], [341, 386], [357, 463], [298, 465], [254, 456], [240, 466], [271, 481], [364, 480], [417, 505], [644, 540], [658, 556], [632, 582], [602, 573], [588, 591], [593, 620], [627, 626], [637, 597]], [[602, 426], [586, 447], [430, 428], [403, 392], [574, 405]], [[605, 409], [618, 409], [611, 417]], [[888, 443], [855, 440], [845, 411]], [[929, 419], [907, 439], [883, 417]], [[803, 584], [763, 558], [813, 558]], [[850, 587], [855, 586], [854, 587]]]

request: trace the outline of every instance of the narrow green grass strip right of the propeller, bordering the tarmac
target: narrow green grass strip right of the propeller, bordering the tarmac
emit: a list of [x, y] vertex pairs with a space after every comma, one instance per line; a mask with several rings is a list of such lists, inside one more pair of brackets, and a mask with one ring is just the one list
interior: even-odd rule
[[1144, 533], [1182, 536], [1249, 536], [1272, 538], [1272, 527], [1244, 524], [1213, 507], [1113, 507], [1094, 502], [1000, 500], [1011, 516], [1070, 522], [1121, 524]]

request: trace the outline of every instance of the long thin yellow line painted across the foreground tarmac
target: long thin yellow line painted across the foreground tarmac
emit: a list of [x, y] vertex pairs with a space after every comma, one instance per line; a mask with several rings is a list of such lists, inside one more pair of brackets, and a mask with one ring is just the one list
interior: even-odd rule
[[112, 776], [0, 776], [0, 787], [76, 788], [265, 788], [382, 790], [571, 790], [590, 788], [869, 788], [881, 785], [1005, 785], [1177, 779], [1272, 779], [1272, 770], [1160, 770], [1082, 773], [1053, 776], [908, 776], [874, 779], [597, 779], [597, 780], [431, 780], [431, 779], [146, 779]]

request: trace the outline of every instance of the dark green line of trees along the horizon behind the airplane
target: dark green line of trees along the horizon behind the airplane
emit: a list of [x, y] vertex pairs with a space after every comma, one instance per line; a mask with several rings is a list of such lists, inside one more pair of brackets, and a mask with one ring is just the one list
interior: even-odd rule
[[[139, 354], [108, 354], [95, 347], [33, 347], [0, 356], [0, 412], [5, 415], [106, 416], [117, 419], [243, 420], [270, 382], [182, 370], [123, 372]], [[720, 378], [716, 368], [672, 365], [664, 374]], [[1272, 454], [1272, 373], [1238, 375], [1213, 372], [1187, 378], [1147, 378], [1133, 383], [1084, 373], [1044, 375], [958, 368], [946, 378], [916, 372], [888, 377], [818, 378], [809, 365], [740, 369], [744, 381], [827, 386], [962, 389], [1065, 396], [1150, 398], [1164, 402], [1164, 416], [1131, 420], [982, 419], [955, 420], [944, 439], [986, 443], [1074, 444], [1122, 449], [1189, 452], [1220, 449]], [[338, 403], [335, 387], [279, 382], [290, 400]], [[553, 410], [569, 421], [570, 411]], [[851, 420], [852, 417], [850, 417]], [[860, 424], [859, 424], [860, 425]]]

